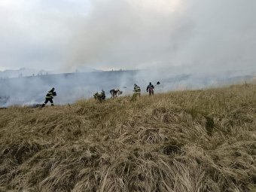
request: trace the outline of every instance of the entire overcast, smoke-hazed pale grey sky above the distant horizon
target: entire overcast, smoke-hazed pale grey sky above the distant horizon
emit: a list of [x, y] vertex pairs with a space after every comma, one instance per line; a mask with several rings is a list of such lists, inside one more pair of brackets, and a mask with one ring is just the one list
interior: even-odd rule
[[255, 10], [255, 0], [0, 0], [0, 70], [255, 70]]

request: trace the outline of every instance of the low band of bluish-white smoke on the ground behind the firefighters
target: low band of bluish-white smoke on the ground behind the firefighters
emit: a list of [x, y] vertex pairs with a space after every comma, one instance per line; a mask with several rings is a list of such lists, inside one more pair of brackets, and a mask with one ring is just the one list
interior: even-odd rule
[[[178, 69], [175, 69], [178, 71]], [[222, 75], [191, 75], [177, 73], [177, 75], [159, 75], [151, 73], [151, 70], [139, 71], [113, 71], [113, 72], [89, 72], [60, 75], [39, 75], [24, 78], [0, 79], [0, 107], [10, 105], [36, 105], [44, 102], [44, 97], [52, 87], [57, 96], [53, 101], [55, 105], [73, 103], [78, 99], [92, 98], [96, 92], [105, 90], [107, 98], [110, 98], [109, 90], [120, 89], [124, 96], [133, 95], [133, 84], [138, 84], [142, 94], [146, 93], [146, 87], [151, 81], [156, 85], [155, 93], [163, 93], [169, 90], [201, 89], [223, 84], [249, 81], [251, 75], [237, 76], [238, 74]]]

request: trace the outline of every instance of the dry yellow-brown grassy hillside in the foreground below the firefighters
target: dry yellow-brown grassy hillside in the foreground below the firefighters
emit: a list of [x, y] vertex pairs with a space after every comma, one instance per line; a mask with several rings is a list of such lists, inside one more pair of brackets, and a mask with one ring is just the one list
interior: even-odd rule
[[256, 85], [0, 110], [0, 191], [256, 191]]

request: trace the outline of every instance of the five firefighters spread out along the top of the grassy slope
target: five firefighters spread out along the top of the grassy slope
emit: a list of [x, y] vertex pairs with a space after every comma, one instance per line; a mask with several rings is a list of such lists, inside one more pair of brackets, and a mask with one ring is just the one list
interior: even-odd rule
[[[160, 84], [160, 82], [158, 81], [157, 84]], [[133, 99], [136, 99], [137, 96], [141, 96], [141, 87], [139, 87], [137, 84], [134, 84], [133, 87]], [[154, 95], [154, 85], [151, 84], [151, 82], [148, 84], [147, 87], [147, 92], [149, 93], [149, 96]], [[122, 91], [120, 90], [110, 90], [111, 93], [111, 98], [117, 97], [120, 94], [122, 94]], [[56, 92], [54, 91], [54, 87], [48, 91], [47, 95], [45, 96], [45, 101], [44, 103], [41, 105], [41, 107], [43, 108], [47, 102], [50, 102], [50, 104], [53, 106], [53, 97], [56, 96]], [[105, 100], [105, 91], [102, 90], [101, 93], [95, 93], [94, 98], [99, 100], [99, 102], [102, 102], [103, 100]]]

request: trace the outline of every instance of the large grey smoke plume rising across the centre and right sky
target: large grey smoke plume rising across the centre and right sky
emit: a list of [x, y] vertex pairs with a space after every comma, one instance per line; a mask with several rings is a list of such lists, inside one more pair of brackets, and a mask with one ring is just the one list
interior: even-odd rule
[[255, 69], [256, 2], [96, 0], [74, 22], [67, 66]]

